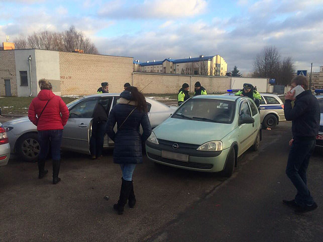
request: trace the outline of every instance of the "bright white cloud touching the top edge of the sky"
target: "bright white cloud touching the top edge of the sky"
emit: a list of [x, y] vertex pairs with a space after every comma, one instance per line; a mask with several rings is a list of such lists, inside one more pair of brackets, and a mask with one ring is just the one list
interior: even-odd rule
[[110, 18], [183, 18], [204, 13], [207, 7], [205, 0], [153, 0], [143, 4], [126, 6], [120, 1], [105, 4], [98, 11], [100, 16]]

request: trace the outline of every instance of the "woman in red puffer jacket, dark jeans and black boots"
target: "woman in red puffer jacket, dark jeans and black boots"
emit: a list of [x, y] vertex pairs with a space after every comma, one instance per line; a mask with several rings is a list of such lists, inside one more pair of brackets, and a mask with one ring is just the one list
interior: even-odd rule
[[52, 84], [48, 80], [41, 79], [38, 84], [41, 91], [32, 100], [28, 109], [29, 119], [37, 126], [40, 144], [38, 178], [41, 179], [48, 173], [48, 170], [45, 170], [45, 159], [49, 151], [49, 142], [51, 142], [53, 184], [57, 184], [61, 180], [58, 177], [58, 173], [61, 159], [60, 147], [63, 127], [67, 123], [69, 111], [62, 98], [52, 92]]

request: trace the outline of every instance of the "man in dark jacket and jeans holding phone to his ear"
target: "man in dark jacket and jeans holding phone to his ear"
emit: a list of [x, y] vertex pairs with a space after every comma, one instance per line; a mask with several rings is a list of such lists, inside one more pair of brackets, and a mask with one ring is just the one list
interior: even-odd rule
[[[317, 208], [307, 188], [306, 170], [309, 158], [315, 148], [315, 137], [319, 130], [319, 105], [317, 99], [308, 90], [308, 81], [304, 76], [296, 76], [291, 80], [292, 88], [300, 85], [305, 91], [294, 97], [289, 91], [285, 96], [284, 113], [286, 120], [292, 121], [293, 138], [287, 161], [286, 174], [297, 189], [293, 200], [283, 203], [295, 207], [296, 213], [304, 213]], [[291, 101], [295, 100], [294, 107]]]

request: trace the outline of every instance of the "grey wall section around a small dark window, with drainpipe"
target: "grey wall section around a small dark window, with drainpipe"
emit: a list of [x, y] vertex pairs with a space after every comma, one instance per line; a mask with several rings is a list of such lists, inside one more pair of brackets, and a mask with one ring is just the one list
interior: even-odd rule
[[[30, 95], [31, 85], [30, 85], [29, 61], [28, 61], [28, 57], [30, 55], [32, 56], [31, 69], [32, 69], [32, 81], [33, 81], [33, 96], [37, 96], [37, 93], [38, 93], [35, 50], [34, 49], [15, 50], [18, 96]], [[21, 86], [19, 71], [27, 71], [28, 86]]]

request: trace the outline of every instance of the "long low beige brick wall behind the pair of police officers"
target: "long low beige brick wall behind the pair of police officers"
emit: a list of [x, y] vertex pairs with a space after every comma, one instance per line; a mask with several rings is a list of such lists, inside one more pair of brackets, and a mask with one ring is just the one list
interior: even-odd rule
[[172, 74], [133, 73], [132, 85], [143, 93], [169, 94], [177, 93], [183, 83], [188, 83], [190, 91], [194, 91], [194, 84], [199, 81], [207, 93], [226, 92], [231, 86], [231, 77], [189, 76]]

